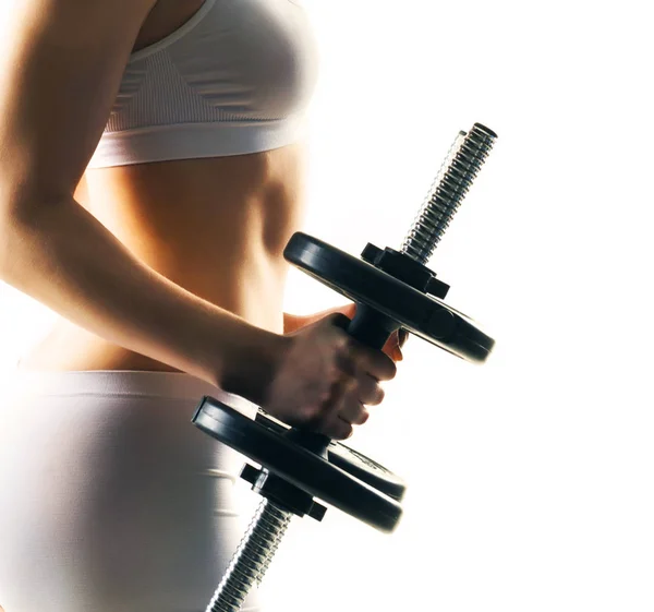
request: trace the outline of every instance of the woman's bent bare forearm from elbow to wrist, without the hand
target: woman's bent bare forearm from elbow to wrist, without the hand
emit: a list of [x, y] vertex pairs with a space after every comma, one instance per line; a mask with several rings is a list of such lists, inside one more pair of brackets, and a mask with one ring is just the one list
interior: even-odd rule
[[280, 336], [146, 266], [73, 199], [29, 209], [0, 218], [0, 279], [108, 341], [261, 403]]

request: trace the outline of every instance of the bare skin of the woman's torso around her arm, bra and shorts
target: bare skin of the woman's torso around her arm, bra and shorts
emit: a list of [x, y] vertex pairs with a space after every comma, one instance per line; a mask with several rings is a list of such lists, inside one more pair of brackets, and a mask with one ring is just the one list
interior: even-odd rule
[[[182, 26], [204, 0], [159, 0], [134, 51]], [[282, 250], [304, 204], [304, 147], [87, 169], [75, 197], [138, 259], [195, 295], [282, 332]], [[175, 371], [58, 317], [22, 370]]]

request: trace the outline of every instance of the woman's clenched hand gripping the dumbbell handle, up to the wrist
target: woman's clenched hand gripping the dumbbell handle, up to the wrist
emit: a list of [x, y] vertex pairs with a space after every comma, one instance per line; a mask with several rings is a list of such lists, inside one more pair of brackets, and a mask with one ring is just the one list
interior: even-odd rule
[[277, 367], [262, 407], [281, 421], [344, 440], [367, 421], [365, 406], [384, 399], [379, 383], [396, 375], [380, 350], [348, 335], [349, 319], [332, 312], [279, 336]]

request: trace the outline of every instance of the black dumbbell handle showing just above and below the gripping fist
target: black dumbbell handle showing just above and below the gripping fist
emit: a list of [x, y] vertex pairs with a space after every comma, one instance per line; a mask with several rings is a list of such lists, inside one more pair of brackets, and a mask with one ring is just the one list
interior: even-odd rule
[[[382, 314], [375, 309], [358, 303], [354, 319], [344, 327], [346, 332], [362, 345], [382, 350], [391, 334], [399, 329], [400, 324]], [[293, 428], [287, 437], [304, 448], [327, 458], [327, 447], [331, 440], [322, 433], [315, 433]]]

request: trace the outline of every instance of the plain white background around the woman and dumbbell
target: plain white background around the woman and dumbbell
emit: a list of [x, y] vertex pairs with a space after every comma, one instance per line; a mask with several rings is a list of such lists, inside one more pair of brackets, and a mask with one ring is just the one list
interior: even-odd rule
[[[296, 519], [270, 612], [652, 611], [645, 2], [304, 4], [322, 47], [306, 230], [399, 248], [457, 132], [488, 125], [431, 266], [497, 349], [479, 368], [409, 341], [351, 441], [407, 479], [403, 521]], [[0, 299], [7, 374], [48, 313]], [[291, 274], [289, 311], [336, 303]]]

